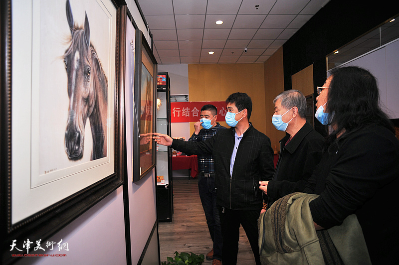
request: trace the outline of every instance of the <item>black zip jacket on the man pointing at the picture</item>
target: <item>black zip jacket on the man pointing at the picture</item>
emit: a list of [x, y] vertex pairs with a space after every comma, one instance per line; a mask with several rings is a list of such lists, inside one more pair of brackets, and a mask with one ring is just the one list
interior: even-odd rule
[[274, 171], [270, 139], [250, 125], [238, 145], [230, 177], [234, 134], [234, 128], [230, 128], [220, 130], [201, 142], [174, 139], [171, 147], [186, 154], [213, 156], [219, 206], [233, 210], [259, 210], [262, 208], [262, 192], [258, 181], [270, 180]]

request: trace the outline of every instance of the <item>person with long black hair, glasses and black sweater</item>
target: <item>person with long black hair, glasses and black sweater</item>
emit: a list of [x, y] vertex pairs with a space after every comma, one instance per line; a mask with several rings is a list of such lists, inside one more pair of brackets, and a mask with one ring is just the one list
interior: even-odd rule
[[399, 141], [369, 71], [350, 66], [330, 74], [316, 98], [316, 118], [332, 133], [304, 190], [320, 195], [309, 203], [315, 228], [341, 225], [356, 214], [372, 263], [395, 264]]

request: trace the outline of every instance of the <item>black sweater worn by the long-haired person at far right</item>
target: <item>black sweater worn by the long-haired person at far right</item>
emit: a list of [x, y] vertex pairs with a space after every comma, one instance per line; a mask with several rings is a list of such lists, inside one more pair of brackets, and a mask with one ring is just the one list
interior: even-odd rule
[[309, 204], [316, 224], [330, 228], [355, 213], [372, 262], [391, 264], [399, 249], [398, 187], [399, 141], [371, 125], [332, 144], [304, 192], [320, 195]]

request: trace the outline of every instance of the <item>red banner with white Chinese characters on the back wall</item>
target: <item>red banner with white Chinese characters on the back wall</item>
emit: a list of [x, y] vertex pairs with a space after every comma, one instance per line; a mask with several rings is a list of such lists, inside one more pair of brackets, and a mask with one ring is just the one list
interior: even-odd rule
[[211, 104], [217, 109], [218, 120], [224, 120], [226, 116], [225, 101], [191, 101], [191, 102], [171, 102], [171, 121], [172, 123], [198, 122], [200, 120], [201, 108], [203, 105]]

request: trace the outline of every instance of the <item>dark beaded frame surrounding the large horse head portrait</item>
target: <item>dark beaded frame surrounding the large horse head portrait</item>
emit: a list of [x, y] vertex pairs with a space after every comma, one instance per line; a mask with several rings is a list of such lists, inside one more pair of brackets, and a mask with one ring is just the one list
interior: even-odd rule
[[[115, 27], [115, 84], [108, 89], [114, 89], [114, 161], [113, 173], [105, 175], [100, 181], [91, 184], [38, 212], [12, 223], [12, 106], [13, 80], [11, 78], [12, 54], [12, 26], [11, 0], [0, 1], [0, 238], [1, 264], [11, 264], [17, 261], [11, 257], [10, 245], [13, 240], [22, 244], [27, 238], [45, 242], [52, 235], [67, 226], [81, 214], [120, 187], [125, 180], [126, 170], [126, 141], [124, 117], [124, 80], [125, 80], [125, 40], [126, 40], [126, 3], [122, 0], [109, 0], [110, 6], [116, 10]], [[113, 30], [113, 29], [112, 29]], [[112, 71], [113, 71], [112, 70]], [[29, 178], [29, 176], [27, 176]], [[44, 244], [44, 243], [42, 243]], [[19, 248], [21, 246], [18, 245]], [[25, 249], [18, 254], [26, 253]]]

